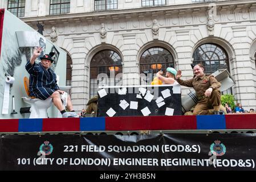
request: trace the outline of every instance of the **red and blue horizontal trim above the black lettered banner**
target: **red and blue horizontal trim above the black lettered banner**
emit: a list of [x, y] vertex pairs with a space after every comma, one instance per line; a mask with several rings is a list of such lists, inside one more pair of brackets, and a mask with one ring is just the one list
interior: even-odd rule
[[256, 114], [0, 119], [0, 132], [256, 129]]

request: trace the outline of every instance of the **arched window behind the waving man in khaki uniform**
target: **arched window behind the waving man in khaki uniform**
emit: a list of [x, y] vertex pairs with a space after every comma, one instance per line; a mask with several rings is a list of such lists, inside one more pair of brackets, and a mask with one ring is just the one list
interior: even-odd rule
[[[194, 65], [198, 63], [204, 65], [205, 73], [214, 73], [218, 69], [227, 69], [229, 71], [229, 57], [225, 49], [217, 44], [206, 43], [197, 47], [193, 53], [193, 59]], [[231, 94], [231, 88], [222, 94]]]

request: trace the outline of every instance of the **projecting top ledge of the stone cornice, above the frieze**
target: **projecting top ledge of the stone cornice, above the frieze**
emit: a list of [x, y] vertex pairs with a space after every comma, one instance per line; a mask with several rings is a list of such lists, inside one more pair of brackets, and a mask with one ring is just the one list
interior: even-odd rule
[[[256, 2], [253, 0], [247, 1], [216, 1], [214, 2], [217, 9], [223, 11], [250, 11], [255, 9]], [[160, 15], [186, 15], [188, 14], [205, 14], [208, 10], [208, 3], [188, 3], [185, 5], [172, 5], [172, 6], [157, 6], [157, 7], [141, 7], [136, 9], [122, 9], [113, 11], [93, 11], [88, 13], [77, 13], [77, 14], [63, 14], [58, 16], [47, 15], [47, 16], [35, 16], [28, 18], [21, 18], [23, 22], [34, 24], [37, 21], [44, 21], [46, 24], [50, 23], [62, 23], [65, 20], [68, 23], [80, 23], [80, 22], [96, 22], [103, 19], [131, 19], [131, 18], [144, 18], [147, 14], [147, 18], [156, 18]], [[147, 12], [147, 13], [146, 13]], [[53, 22], [52, 22], [53, 21]]]

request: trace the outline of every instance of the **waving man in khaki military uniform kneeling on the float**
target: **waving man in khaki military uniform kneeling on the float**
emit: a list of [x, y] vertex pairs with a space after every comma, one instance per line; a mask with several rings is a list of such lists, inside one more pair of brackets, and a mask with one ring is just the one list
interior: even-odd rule
[[193, 68], [194, 77], [189, 80], [181, 80], [181, 71], [176, 74], [176, 80], [180, 85], [193, 87], [196, 91], [198, 102], [193, 114], [220, 114], [221, 84], [212, 75], [204, 73], [202, 64], [196, 64]]

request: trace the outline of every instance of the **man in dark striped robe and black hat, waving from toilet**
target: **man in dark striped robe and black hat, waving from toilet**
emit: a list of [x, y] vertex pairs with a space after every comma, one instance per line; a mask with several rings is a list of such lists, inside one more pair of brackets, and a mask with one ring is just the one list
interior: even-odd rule
[[27, 64], [25, 66], [27, 72], [29, 72], [30, 74], [30, 96], [40, 98], [40, 100], [46, 100], [48, 97], [52, 98], [52, 102], [54, 102], [54, 105], [59, 109], [60, 113], [62, 113], [63, 118], [79, 117], [73, 109], [73, 105], [71, 103], [71, 98], [69, 95], [67, 100], [67, 109], [70, 110], [70, 112], [67, 112], [62, 105], [60, 94], [63, 94], [64, 91], [59, 90], [56, 75], [54, 71], [52, 71], [52, 69], [50, 68], [51, 63], [54, 61], [52, 60], [54, 52], [50, 52], [48, 55], [40, 57], [41, 62], [39, 64], [36, 64], [36, 57], [40, 56], [41, 52], [41, 47], [35, 47], [33, 55], [31, 56], [30, 60], [27, 61]]

